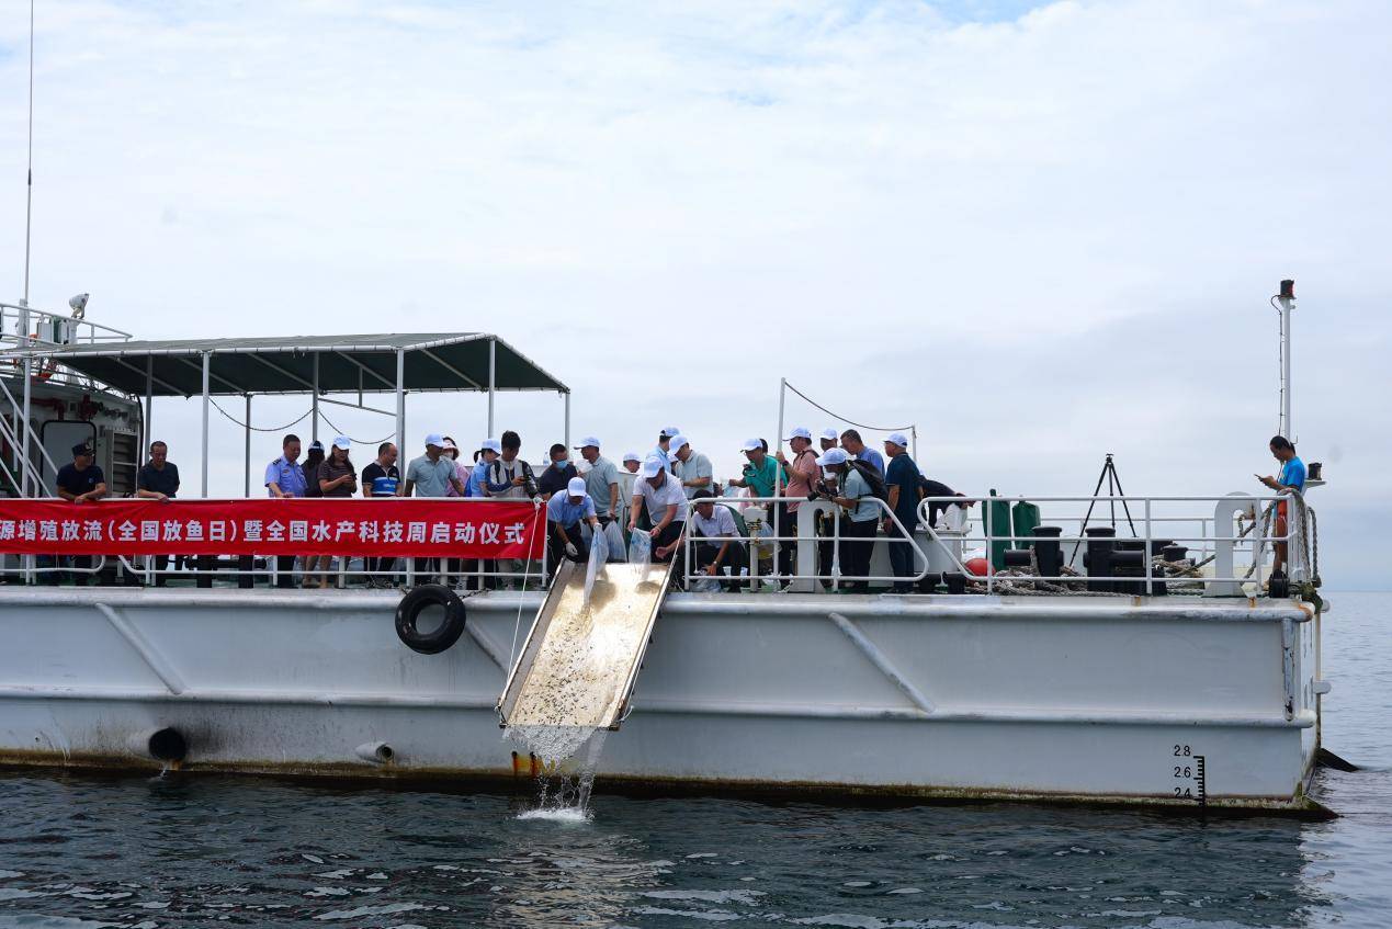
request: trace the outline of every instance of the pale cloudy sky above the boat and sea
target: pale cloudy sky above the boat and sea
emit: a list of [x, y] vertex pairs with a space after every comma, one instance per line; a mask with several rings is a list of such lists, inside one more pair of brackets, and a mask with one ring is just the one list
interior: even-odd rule
[[[0, 1], [11, 302], [26, 43]], [[729, 474], [785, 377], [916, 423], [959, 490], [1087, 494], [1114, 453], [1126, 492], [1199, 496], [1274, 469], [1293, 277], [1321, 572], [1386, 589], [1389, 47], [1392, 4], [1352, 0], [40, 1], [31, 299], [138, 337], [493, 331], [611, 457], [677, 425]], [[529, 457], [562, 436], [554, 394], [497, 411]], [[196, 475], [198, 401], [155, 421]], [[484, 401], [412, 398], [434, 430], [482, 439]]]

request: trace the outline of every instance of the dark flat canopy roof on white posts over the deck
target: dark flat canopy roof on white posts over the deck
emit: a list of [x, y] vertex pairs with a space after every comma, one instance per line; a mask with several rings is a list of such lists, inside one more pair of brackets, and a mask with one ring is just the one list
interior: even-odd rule
[[490, 344], [494, 347], [494, 390], [569, 393], [569, 387], [526, 355], [489, 333], [43, 344], [10, 350], [6, 355], [42, 357], [129, 394], [142, 396], [149, 387], [156, 397], [195, 397], [203, 393], [205, 354], [209, 357], [209, 393], [239, 396], [309, 393], [316, 383], [320, 393], [394, 393], [397, 352], [401, 352], [400, 386], [406, 393], [420, 393], [489, 390]]

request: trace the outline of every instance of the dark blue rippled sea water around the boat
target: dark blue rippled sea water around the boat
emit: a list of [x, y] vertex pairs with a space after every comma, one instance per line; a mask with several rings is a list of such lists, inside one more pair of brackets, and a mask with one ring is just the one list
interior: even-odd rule
[[1392, 595], [1332, 595], [1331, 822], [0, 776], [0, 926], [1392, 925]]

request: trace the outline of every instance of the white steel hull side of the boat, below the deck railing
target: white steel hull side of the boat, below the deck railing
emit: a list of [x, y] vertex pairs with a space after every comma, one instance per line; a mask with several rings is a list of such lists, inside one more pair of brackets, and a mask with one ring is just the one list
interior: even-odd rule
[[[387, 592], [0, 591], [0, 760], [528, 780], [494, 709], [541, 598], [441, 655]], [[670, 595], [601, 786], [1306, 809], [1317, 621], [1190, 598]], [[365, 747], [390, 747], [390, 760]], [[1201, 760], [1200, 760], [1201, 759]]]

